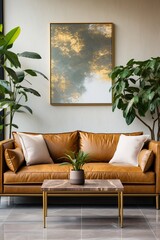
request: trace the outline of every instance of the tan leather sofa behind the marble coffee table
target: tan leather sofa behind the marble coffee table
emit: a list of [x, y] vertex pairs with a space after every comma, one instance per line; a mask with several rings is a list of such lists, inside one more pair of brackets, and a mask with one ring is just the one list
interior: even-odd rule
[[[37, 134], [37, 133], [29, 133]], [[127, 133], [140, 135], [142, 133]], [[79, 149], [89, 153], [84, 165], [86, 179], [120, 179], [124, 185], [124, 196], [155, 196], [159, 208], [160, 194], [160, 142], [149, 140], [145, 148], [154, 153], [154, 161], [147, 172], [140, 166], [113, 165], [108, 162], [116, 150], [120, 133], [91, 133], [73, 131], [67, 133], [42, 134], [53, 163], [27, 166], [25, 162], [17, 172], [7, 167], [5, 149], [20, 146], [17, 133], [13, 139], [0, 142], [0, 195], [39, 196], [44, 179], [68, 179], [70, 166], [61, 166], [65, 153]], [[65, 193], [62, 193], [62, 195]]]

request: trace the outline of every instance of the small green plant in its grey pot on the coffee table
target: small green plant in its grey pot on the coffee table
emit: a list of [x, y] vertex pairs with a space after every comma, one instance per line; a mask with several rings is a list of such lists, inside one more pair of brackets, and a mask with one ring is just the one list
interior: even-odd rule
[[72, 165], [72, 169], [70, 170], [70, 183], [83, 185], [85, 183], [85, 176], [82, 167], [88, 158], [88, 154], [83, 151], [79, 151], [78, 153], [71, 152], [70, 154], [65, 154], [65, 158], [68, 159], [69, 162], [63, 162], [61, 165]]

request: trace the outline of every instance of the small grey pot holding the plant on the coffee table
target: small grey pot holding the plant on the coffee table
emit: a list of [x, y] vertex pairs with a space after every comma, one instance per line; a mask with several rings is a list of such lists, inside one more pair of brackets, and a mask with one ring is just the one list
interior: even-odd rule
[[83, 185], [85, 183], [84, 170], [70, 171], [70, 184]]

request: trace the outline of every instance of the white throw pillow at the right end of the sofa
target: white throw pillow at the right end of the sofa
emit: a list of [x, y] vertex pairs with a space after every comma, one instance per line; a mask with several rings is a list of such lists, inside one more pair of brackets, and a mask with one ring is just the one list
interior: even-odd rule
[[149, 139], [149, 135], [126, 136], [121, 134], [117, 149], [109, 163], [127, 163], [138, 166], [138, 153], [141, 151], [144, 142]]

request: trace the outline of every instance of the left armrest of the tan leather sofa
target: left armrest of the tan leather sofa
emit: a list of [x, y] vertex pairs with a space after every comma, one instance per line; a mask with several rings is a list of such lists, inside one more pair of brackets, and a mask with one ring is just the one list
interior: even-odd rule
[[5, 158], [4, 158], [4, 151], [6, 148], [8, 149], [14, 148], [13, 139], [0, 141], [0, 194], [3, 192], [3, 173], [7, 168]]

